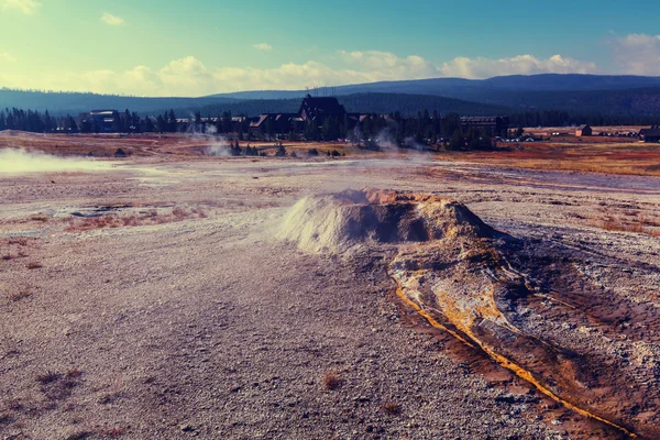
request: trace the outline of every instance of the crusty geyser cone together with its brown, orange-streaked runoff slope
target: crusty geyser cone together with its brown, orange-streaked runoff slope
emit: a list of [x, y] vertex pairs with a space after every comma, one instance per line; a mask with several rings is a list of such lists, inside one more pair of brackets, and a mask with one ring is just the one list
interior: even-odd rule
[[453, 200], [373, 189], [305, 198], [279, 235], [314, 253], [392, 248], [399, 298], [439, 331], [615, 437], [660, 438], [658, 314], [613, 299], [575, 255]]

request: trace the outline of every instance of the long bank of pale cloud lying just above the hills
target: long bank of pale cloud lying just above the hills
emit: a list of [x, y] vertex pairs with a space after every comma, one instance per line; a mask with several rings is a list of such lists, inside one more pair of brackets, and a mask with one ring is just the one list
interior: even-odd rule
[[455, 58], [436, 66], [411, 55], [398, 57], [387, 52], [339, 52], [344, 66], [330, 67], [309, 61], [287, 63], [273, 68], [221, 67], [209, 68], [194, 56], [173, 61], [160, 69], [136, 66], [125, 72], [95, 70], [86, 73], [34, 73], [34, 76], [2, 74], [6, 87], [50, 90], [94, 91], [136, 96], [204, 96], [222, 91], [304, 89], [381, 80], [422, 79], [461, 76], [485, 78], [495, 75], [538, 73], [587, 73], [596, 69], [560, 55], [538, 59], [530, 55], [512, 58]]

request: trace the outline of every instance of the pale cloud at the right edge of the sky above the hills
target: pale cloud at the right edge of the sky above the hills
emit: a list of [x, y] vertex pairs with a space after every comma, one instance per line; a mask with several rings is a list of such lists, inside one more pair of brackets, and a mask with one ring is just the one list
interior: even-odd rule
[[660, 75], [660, 35], [629, 34], [608, 44], [620, 73]]

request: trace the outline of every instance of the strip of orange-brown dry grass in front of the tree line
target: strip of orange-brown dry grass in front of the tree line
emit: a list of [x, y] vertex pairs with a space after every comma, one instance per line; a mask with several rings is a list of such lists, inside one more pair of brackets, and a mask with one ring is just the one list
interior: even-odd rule
[[[622, 128], [595, 128], [613, 132]], [[624, 127], [624, 130], [639, 130]], [[541, 131], [527, 129], [529, 133], [543, 134], [559, 129]], [[565, 129], [564, 129], [565, 131]], [[118, 148], [135, 156], [156, 157], [206, 157], [220, 140], [205, 136], [168, 135], [43, 135], [20, 132], [0, 133], [0, 147], [21, 147], [57, 155], [91, 155], [113, 157]], [[274, 142], [241, 141], [241, 147], [251, 145], [268, 155], [274, 155]], [[551, 138], [542, 142], [518, 144], [501, 143], [496, 152], [440, 152], [420, 153], [409, 150], [384, 150], [370, 152], [342, 143], [284, 142], [288, 154], [296, 152], [299, 158], [308, 157], [316, 148], [319, 157], [337, 151], [349, 158], [414, 158], [416, 161], [444, 160], [472, 162], [529, 169], [556, 169], [565, 172], [605, 173], [615, 175], [660, 176], [660, 145], [645, 144], [636, 139], [591, 136], [575, 138], [572, 134]]]

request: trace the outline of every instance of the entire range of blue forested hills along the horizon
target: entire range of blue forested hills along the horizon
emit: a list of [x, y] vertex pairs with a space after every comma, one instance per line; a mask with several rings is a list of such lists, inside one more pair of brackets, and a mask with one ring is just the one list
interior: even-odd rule
[[660, 77], [560, 75], [502, 76], [490, 79], [433, 78], [340, 86], [315, 90], [263, 90], [199, 98], [142, 98], [78, 92], [0, 89], [0, 108], [22, 108], [53, 114], [91, 109], [130, 109], [156, 114], [255, 116], [294, 112], [306, 95], [334, 95], [353, 112], [411, 114], [428, 109], [440, 113], [505, 114], [562, 110], [583, 114], [660, 117]]

